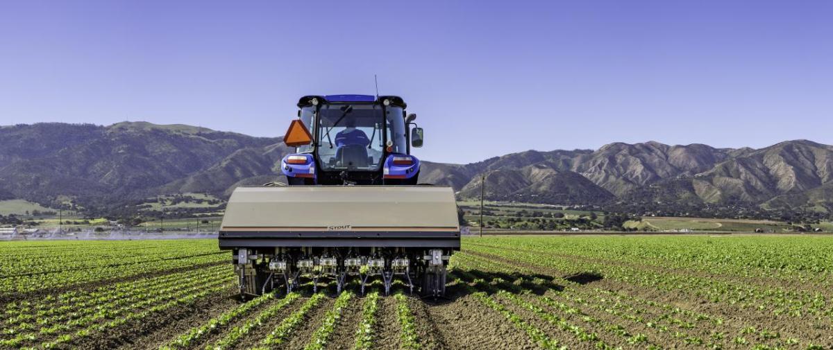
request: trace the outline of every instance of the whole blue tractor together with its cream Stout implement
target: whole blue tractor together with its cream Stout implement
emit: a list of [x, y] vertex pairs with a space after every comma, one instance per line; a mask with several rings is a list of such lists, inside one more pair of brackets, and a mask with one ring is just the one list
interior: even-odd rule
[[232, 192], [218, 239], [232, 251], [244, 298], [302, 281], [353, 280], [364, 293], [382, 279], [438, 298], [446, 266], [460, 249], [451, 187], [418, 181], [423, 141], [415, 114], [398, 96], [303, 96], [283, 141], [287, 183]]

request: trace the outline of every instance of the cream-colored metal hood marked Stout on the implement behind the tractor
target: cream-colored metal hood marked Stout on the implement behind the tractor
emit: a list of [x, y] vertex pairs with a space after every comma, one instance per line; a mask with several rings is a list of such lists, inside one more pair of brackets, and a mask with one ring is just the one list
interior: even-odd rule
[[244, 186], [220, 239], [459, 239], [456, 214], [447, 186]]

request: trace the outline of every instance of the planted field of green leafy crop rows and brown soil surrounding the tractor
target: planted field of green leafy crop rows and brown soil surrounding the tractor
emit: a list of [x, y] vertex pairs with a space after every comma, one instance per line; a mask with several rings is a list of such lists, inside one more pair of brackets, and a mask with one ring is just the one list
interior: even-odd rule
[[833, 348], [833, 238], [463, 239], [447, 300], [237, 296], [213, 239], [0, 242], [0, 348]]

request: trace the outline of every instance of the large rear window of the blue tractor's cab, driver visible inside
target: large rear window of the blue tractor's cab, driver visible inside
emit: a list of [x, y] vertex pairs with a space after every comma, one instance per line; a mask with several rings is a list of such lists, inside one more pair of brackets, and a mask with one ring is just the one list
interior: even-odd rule
[[322, 170], [379, 169], [384, 127], [381, 106], [324, 105], [319, 118], [315, 135]]

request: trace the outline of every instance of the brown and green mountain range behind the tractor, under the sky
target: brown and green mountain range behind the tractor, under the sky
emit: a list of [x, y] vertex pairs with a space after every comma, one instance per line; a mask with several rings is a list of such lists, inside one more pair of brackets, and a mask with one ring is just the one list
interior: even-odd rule
[[[154, 195], [208, 193], [281, 180], [280, 138], [185, 125], [0, 126], [0, 199], [112, 208]], [[598, 150], [527, 150], [466, 165], [422, 162], [421, 183], [461, 199], [560, 205], [742, 205], [833, 212], [833, 146], [790, 140], [761, 149], [658, 142]]]

